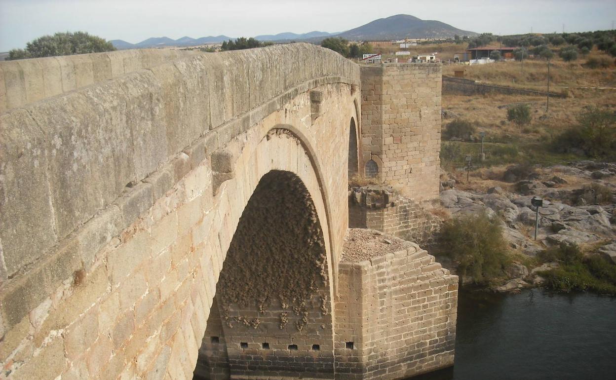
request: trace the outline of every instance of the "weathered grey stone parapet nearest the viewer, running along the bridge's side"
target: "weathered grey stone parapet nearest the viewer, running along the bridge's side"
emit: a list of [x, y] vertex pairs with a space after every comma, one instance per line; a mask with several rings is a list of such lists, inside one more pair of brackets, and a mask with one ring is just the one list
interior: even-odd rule
[[[3, 113], [0, 280], [165, 163], [180, 158], [184, 166], [188, 153], [203, 158], [325, 83], [359, 84], [359, 68], [314, 45], [278, 45], [182, 58]], [[152, 198], [147, 185], [137, 188]], [[144, 202], [132, 206], [152, 203]], [[126, 226], [134, 212], [120, 208]]]

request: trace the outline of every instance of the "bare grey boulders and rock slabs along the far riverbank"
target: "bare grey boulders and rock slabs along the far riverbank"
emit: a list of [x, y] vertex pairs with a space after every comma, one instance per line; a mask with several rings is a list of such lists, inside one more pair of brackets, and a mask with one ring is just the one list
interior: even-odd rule
[[[545, 279], [540, 273], [556, 269], [559, 263], [539, 265], [534, 258], [561, 244], [578, 246], [616, 264], [616, 164], [580, 161], [531, 170], [511, 166], [500, 181], [490, 182], [493, 186], [487, 191], [460, 190], [452, 177], [442, 176], [442, 207], [453, 217], [480, 212], [498, 216], [509, 246], [523, 255], [506, 269], [508, 279], [494, 286], [496, 291], [541, 285]], [[537, 240], [533, 196], [543, 198]]]

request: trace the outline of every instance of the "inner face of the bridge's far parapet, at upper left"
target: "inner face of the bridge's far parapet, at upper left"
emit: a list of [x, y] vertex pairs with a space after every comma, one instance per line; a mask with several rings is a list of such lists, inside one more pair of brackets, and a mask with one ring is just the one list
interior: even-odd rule
[[0, 61], [0, 112], [195, 54], [139, 49]]

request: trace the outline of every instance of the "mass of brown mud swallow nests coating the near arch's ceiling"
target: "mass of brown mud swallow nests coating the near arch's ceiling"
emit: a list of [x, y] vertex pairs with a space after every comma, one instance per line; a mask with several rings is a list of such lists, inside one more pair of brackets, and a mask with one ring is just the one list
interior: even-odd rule
[[[313, 296], [321, 296], [316, 309], [328, 312], [319, 293], [327, 273], [325, 241], [308, 190], [291, 172], [265, 174], [240, 218], [217, 284], [221, 317], [229, 327], [232, 320], [247, 325], [252, 318], [230, 317], [232, 305], [263, 314], [277, 301], [293, 310], [301, 331]], [[284, 314], [280, 328], [288, 320]]]

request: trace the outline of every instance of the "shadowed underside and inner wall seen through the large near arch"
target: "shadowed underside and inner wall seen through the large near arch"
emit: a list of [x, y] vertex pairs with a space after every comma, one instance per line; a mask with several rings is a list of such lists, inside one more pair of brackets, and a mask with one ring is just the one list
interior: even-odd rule
[[195, 377], [333, 377], [327, 265], [307, 188], [291, 172], [268, 172], [233, 235]]

